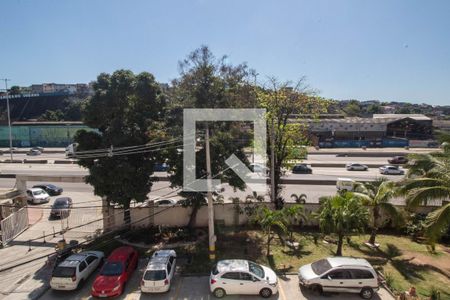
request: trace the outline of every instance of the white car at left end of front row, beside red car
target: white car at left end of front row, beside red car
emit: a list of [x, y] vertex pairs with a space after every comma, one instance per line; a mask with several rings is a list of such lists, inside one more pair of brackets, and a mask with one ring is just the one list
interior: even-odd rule
[[53, 270], [50, 287], [54, 290], [76, 290], [103, 262], [104, 257], [101, 251], [85, 251], [69, 256]]

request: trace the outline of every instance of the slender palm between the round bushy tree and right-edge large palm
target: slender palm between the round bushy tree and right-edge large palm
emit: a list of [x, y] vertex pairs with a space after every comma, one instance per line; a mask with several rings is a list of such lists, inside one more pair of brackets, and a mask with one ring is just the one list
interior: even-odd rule
[[358, 182], [355, 186], [353, 195], [360, 198], [364, 205], [372, 207], [372, 231], [368, 241], [371, 245], [375, 245], [381, 212], [389, 215], [397, 224], [401, 219], [401, 214], [397, 208], [392, 203], [389, 203], [389, 200], [395, 194], [395, 183], [388, 181], [386, 178], [366, 183]]

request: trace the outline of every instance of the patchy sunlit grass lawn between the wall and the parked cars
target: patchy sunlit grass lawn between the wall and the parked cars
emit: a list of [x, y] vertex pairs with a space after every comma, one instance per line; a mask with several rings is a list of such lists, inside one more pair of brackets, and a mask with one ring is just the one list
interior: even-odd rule
[[[317, 235], [316, 235], [317, 236]], [[218, 234], [217, 259], [246, 258], [271, 266], [278, 272], [297, 272], [304, 264], [333, 256], [336, 245], [326, 244], [321, 239], [314, 241], [312, 233], [294, 233], [300, 249], [291, 250], [274, 239], [271, 246], [272, 258], [266, 256], [266, 238], [259, 230], [224, 229]], [[353, 236], [350, 243], [344, 242], [345, 256], [364, 257], [379, 271], [389, 277], [390, 285], [396, 291], [406, 291], [415, 286], [420, 296], [429, 295], [432, 287], [441, 292], [441, 299], [450, 299], [450, 254], [444, 247], [437, 246], [436, 254], [427, 251], [423, 244], [413, 242], [409, 237], [382, 235], [377, 237], [379, 249], [364, 245], [368, 236]], [[185, 272], [209, 273], [207, 241], [189, 248], [180, 249], [182, 255], [192, 257]]]

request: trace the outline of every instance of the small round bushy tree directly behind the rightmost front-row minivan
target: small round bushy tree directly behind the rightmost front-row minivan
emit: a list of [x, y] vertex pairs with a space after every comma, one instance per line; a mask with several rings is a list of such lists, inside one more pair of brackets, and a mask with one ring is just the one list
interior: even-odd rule
[[322, 232], [337, 235], [336, 256], [342, 256], [344, 237], [364, 231], [368, 222], [368, 211], [360, 199], [347, 192], [323, 198], [318, 219]]

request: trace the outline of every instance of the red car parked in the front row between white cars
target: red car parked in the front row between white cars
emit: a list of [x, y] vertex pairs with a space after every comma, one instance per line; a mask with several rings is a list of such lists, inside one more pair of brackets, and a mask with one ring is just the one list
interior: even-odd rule
[[93, 297], [112, 297], [123, 293], [138, 263], [138, 253], [132, 247], [115, 249], [106, 260], [92, 284]]

